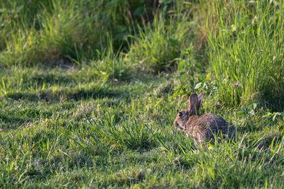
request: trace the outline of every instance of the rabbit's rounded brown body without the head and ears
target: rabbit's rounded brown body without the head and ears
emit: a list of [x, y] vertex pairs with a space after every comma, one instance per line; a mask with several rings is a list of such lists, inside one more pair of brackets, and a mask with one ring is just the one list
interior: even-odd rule
[[234, 137], [235, 128], [231, 122], [226, 122], [219, 115], [207, 113], [200, 116], [191, 116], [185, 125], [184, 131], [188, 137], [193, 137], [195, 141], [202, 144], [204, 140], [214, 142], [214, 135], [221, 132], [229, 138]]

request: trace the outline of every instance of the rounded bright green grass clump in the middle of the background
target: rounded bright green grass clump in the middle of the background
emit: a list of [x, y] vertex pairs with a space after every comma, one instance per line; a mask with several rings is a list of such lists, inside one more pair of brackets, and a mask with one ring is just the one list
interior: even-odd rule
[[155, 71], [171, 69], [192, 42], [192, 23], [186, 19], [171, 16], [165, 21], [162, 15], [156, 15], [151, 25], [138, 28], [138, 38], [128, 53], [129, 60]]

